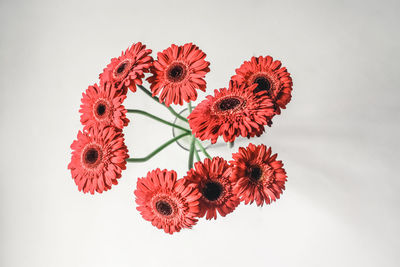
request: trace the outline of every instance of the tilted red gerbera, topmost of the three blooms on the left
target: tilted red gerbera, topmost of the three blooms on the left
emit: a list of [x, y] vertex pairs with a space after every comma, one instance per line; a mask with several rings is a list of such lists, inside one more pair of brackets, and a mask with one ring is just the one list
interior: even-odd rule
[[111, 63], [100, 74], [100, 83], [111, 82], [123, 94], [127, 93], [128, 88], [136, 92], [136, 85], [142, 84], [144, 73], [149, 72], [152, 65], [151, 52], [140, 42], [133, 44], [121, 56], [111, 59]]

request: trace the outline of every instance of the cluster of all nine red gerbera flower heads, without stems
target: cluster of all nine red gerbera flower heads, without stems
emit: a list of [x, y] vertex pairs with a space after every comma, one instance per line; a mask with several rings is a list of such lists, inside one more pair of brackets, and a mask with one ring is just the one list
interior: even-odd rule
[[[146, 90], [142, 86], [145, 73], [151, 74], [147, 81], [152, 96], [169, 108], [195, 101], [197, 90], [206, 90], [204, 77], [210, 63], [197, 46], [172, 45], [158, 53], [156, 60], [151, 52], [141, 43], [133, 44], [111, 60], [99, 75], [98, 85], [82, 94], [83, 130], [71, 145], [68, 165], [79, 191], [102, 193], [118, 184], [129, 161], [122, 133], [129, 123], [123, 101], [128, 91]], [[219, 136], [225, 142], [260, 136], [289, 103], [291, 91], [292, 79], [280, 61], [252, 57], [236, 69], [228, 88], [215, 90], [194, 108], [187, 118], [191, 132], [211, 143]], [[226, 216], [241, 201], [270, 204], [285, 189], [286, 172], [276, 157], [271, 148], [250, 143], [240, 147], [230, 162], [220, 157], [197, 161], [181, 179], [173, 170], [155, 169], [137, 181], [137, 210], [172, 234], [191, 228], [197, 218]]]

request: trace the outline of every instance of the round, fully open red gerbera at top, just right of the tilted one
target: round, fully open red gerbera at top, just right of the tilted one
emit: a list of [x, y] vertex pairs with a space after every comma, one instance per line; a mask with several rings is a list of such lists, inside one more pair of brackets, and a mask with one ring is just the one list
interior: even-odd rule
[[158, 53], [151, 68], [153, 76], [147, 78], [153, 96], [160, 93], [160, 102], [166, 106], [196, 100], [196, 89], [206, 90], [204, 77], [210, 71], [210, 62], [205, 61], [205, 57], [206, 54], [192, 43], [173, 44]]

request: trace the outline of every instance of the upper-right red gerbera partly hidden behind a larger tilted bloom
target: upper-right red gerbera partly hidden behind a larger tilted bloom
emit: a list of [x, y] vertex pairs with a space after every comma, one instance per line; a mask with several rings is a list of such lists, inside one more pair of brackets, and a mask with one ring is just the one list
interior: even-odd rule
[[277, 114], [280, 114], [280, 108], [286, 108], [292, 98], [293, 85], [290, 73], [281, 65], [279, 60], [274, 61], [270, 56], [252, 57], [236, 69], [232, 80], [248, 86], [256, 84], [254, 93], [267, 92], [277, 105]]

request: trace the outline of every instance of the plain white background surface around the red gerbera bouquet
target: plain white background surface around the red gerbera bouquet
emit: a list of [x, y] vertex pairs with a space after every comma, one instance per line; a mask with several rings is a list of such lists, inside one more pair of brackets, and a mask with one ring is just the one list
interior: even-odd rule
[[[2, 0], [0, 266], [399, 266], [399, 3]], [[211, 62], [208, 93], [251, 56], [283, 62], [292, 102], [252, 140], [284, 161], [279, 201], [172, 236], [154, 228], [133, 190], [157, 167], [185, 174], [175, 144], [130, 164], [111, 191], [78, 192], [67, 164], [81, 93], [138, 41], [153, 55], [197, 44]], [[142, 92], [125, 105], [172, 119]], [[171, 136], [129, 118], [131, 156]]]

